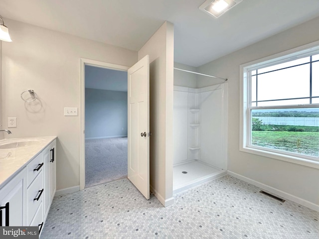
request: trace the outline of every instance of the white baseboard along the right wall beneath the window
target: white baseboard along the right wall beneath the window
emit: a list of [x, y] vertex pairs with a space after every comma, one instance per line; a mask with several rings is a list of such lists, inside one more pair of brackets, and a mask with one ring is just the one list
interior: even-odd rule
[[291, 201], [293, 201], [293, 202], [295, 202], [295, 203], [298, 203], [298, 204], [300, 204], [300, 205], [303, 205], [303, 206], [305, 206], [305, 207], [307, 207], [307, 208], [310, 208], [310, 209], [312, 209], [312, 210], [315, 210], [315, 211], [319, 212], [319, 205], [317, 205], [317, 204], [314, 204], [314, 203], [309, 202], [309, 201], [307, 201], [307, 200], [305, 200], [305, 199], [296, 197], [296, 196], [294, 196], [294, 195], [292, 195], [292, 194], [289, 194], [289, 193], [286, 193], [286, 192], [284, 192], [284, 191], [282, 191], [282, 190], [273, 188], [273, 187], [268, 186], [268, 185], [266, 185], [266, 184], [260, 183], [260, 182], [258, 182], [258, 181], [253, 180], [253, 179], [247, 178], [247, 177], [242, 176], [242, 175], [240, 175], [240, 174], [234, 173], [234, 172], [232, 172], [232, 171], [229, 171], [229, 170], [228, 170], [227, 173], [228, 173], [228, 175], [230, 175], [230, 176], [233, 176], [233, 177], [235, 177], [235, 178], [238, 178], [238, 179], [240, 179], [240, 180], [243, 180], [243, 181], [245, 181], [245, 182], [247, 182], [247, 183], [250, 183], [250, 184], [255, 185], [255, 186], [259, 187], [259, 188], [262, 188], [262, 189], [264, 189], [264, 190], [266, 190], [266, 191], [268, 191], [268, 192], [271, 192], [271, 193], [276, 194], [276, 195], [278, 195], [278, 196], [280, 196], [280, 197], [283, 197], [283, 198], [285, 198], [285, 199], [291, 200]]

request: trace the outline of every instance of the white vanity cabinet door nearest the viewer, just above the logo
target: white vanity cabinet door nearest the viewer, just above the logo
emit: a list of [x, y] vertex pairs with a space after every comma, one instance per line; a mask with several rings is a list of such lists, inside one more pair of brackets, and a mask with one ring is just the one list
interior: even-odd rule
[[0, 226], [25, 225], [26, 168], [0, 190]]

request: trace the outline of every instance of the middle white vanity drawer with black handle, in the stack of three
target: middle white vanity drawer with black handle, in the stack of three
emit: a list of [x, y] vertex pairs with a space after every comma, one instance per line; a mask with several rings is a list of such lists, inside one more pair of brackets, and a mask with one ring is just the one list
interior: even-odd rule
[[43, 201], [44, 195], [43, 191], [43, 173], [41, 170], [26, 191], [27, 225], [31, 223], [32, 219], [34, 218], [35, 212], [37, 211], [39, 206], [42, 206], [41, 203]]

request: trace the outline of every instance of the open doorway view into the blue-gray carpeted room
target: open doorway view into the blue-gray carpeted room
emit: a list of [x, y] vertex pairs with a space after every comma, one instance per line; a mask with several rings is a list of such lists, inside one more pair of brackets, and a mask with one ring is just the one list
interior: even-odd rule
[[127, 177], [127, 72], [85, 65], [85, 187]]

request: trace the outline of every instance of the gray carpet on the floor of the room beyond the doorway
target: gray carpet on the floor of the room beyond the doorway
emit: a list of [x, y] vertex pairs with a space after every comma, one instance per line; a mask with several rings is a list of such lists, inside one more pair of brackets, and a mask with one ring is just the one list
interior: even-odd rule
[[128, 138], [85, 140], [85, 187], [126, 178]]

